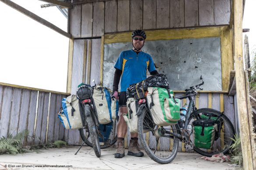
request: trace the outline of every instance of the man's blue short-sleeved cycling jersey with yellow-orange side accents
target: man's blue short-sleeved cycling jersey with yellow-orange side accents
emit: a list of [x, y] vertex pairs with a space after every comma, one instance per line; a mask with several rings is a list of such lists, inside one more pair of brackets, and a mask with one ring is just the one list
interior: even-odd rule
[[138, 54], [133, 50], [122, 51], [116, 61], [115, 68], [122, 70], [121, 92], [125, 92], [129, 85], [147, 78], [149, 72], [156, 70], [151, 56], [143, 51]]

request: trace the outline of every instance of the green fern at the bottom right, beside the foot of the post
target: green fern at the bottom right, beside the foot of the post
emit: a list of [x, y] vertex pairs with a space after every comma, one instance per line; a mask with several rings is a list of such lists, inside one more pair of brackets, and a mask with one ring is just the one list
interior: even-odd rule
[[234, 143], [229, 147], [231, 151], [231, 163], [242, 166], [243, 164], [243, 155], [242, 155], [242, 146], [241, 138], [238, 134], [235, 134], [235, 138], [232, 139]]

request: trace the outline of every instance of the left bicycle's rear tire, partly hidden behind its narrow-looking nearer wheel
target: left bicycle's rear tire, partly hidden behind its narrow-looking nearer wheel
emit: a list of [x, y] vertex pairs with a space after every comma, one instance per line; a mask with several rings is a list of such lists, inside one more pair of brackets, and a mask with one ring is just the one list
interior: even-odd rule
[[[113, 123], [113, 128], [116, 129], [116, 125], [117, 125], [117, 120], [115, 120], [115, 123]], [[117, 141], [117, 131], [116, 131], [116, 130], [113, 130], [113, 128], [112, 128], [112, 132], [111, 132], [111, 133], [114, 133], [114, 134], [115, 134], [114, 139], [112, 139], [112, 142], [111, 142], [110, 144], [109, 144], [109, 143], [103, 143], [103, 144], [100, 143], [101, 149], [108, 148], [108, 147], [110, 147], [110, 146], [112, 146], [112, 145], [114, 145], [114, 144], [116, 143], [116, 141]], [[89, 139], [90, 133], [88, 132], [88, 130], [81, 128], [81, 129], [79, 129], [79, 133], [80, 133], [81, 139], [82, 139], [88, 146], [92, 147], [92, 144], [91, 144], [91, 142], [90, 142], [91, 139]]]

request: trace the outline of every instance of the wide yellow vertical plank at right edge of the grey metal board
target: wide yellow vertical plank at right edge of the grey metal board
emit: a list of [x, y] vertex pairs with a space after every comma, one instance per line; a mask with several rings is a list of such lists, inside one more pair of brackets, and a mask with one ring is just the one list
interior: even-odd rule
[[228, 26], [220, 27], [221, 31], [221, 81], [222, 90], [228, 91], [229, 73], [233, 70], [232, 30]]

